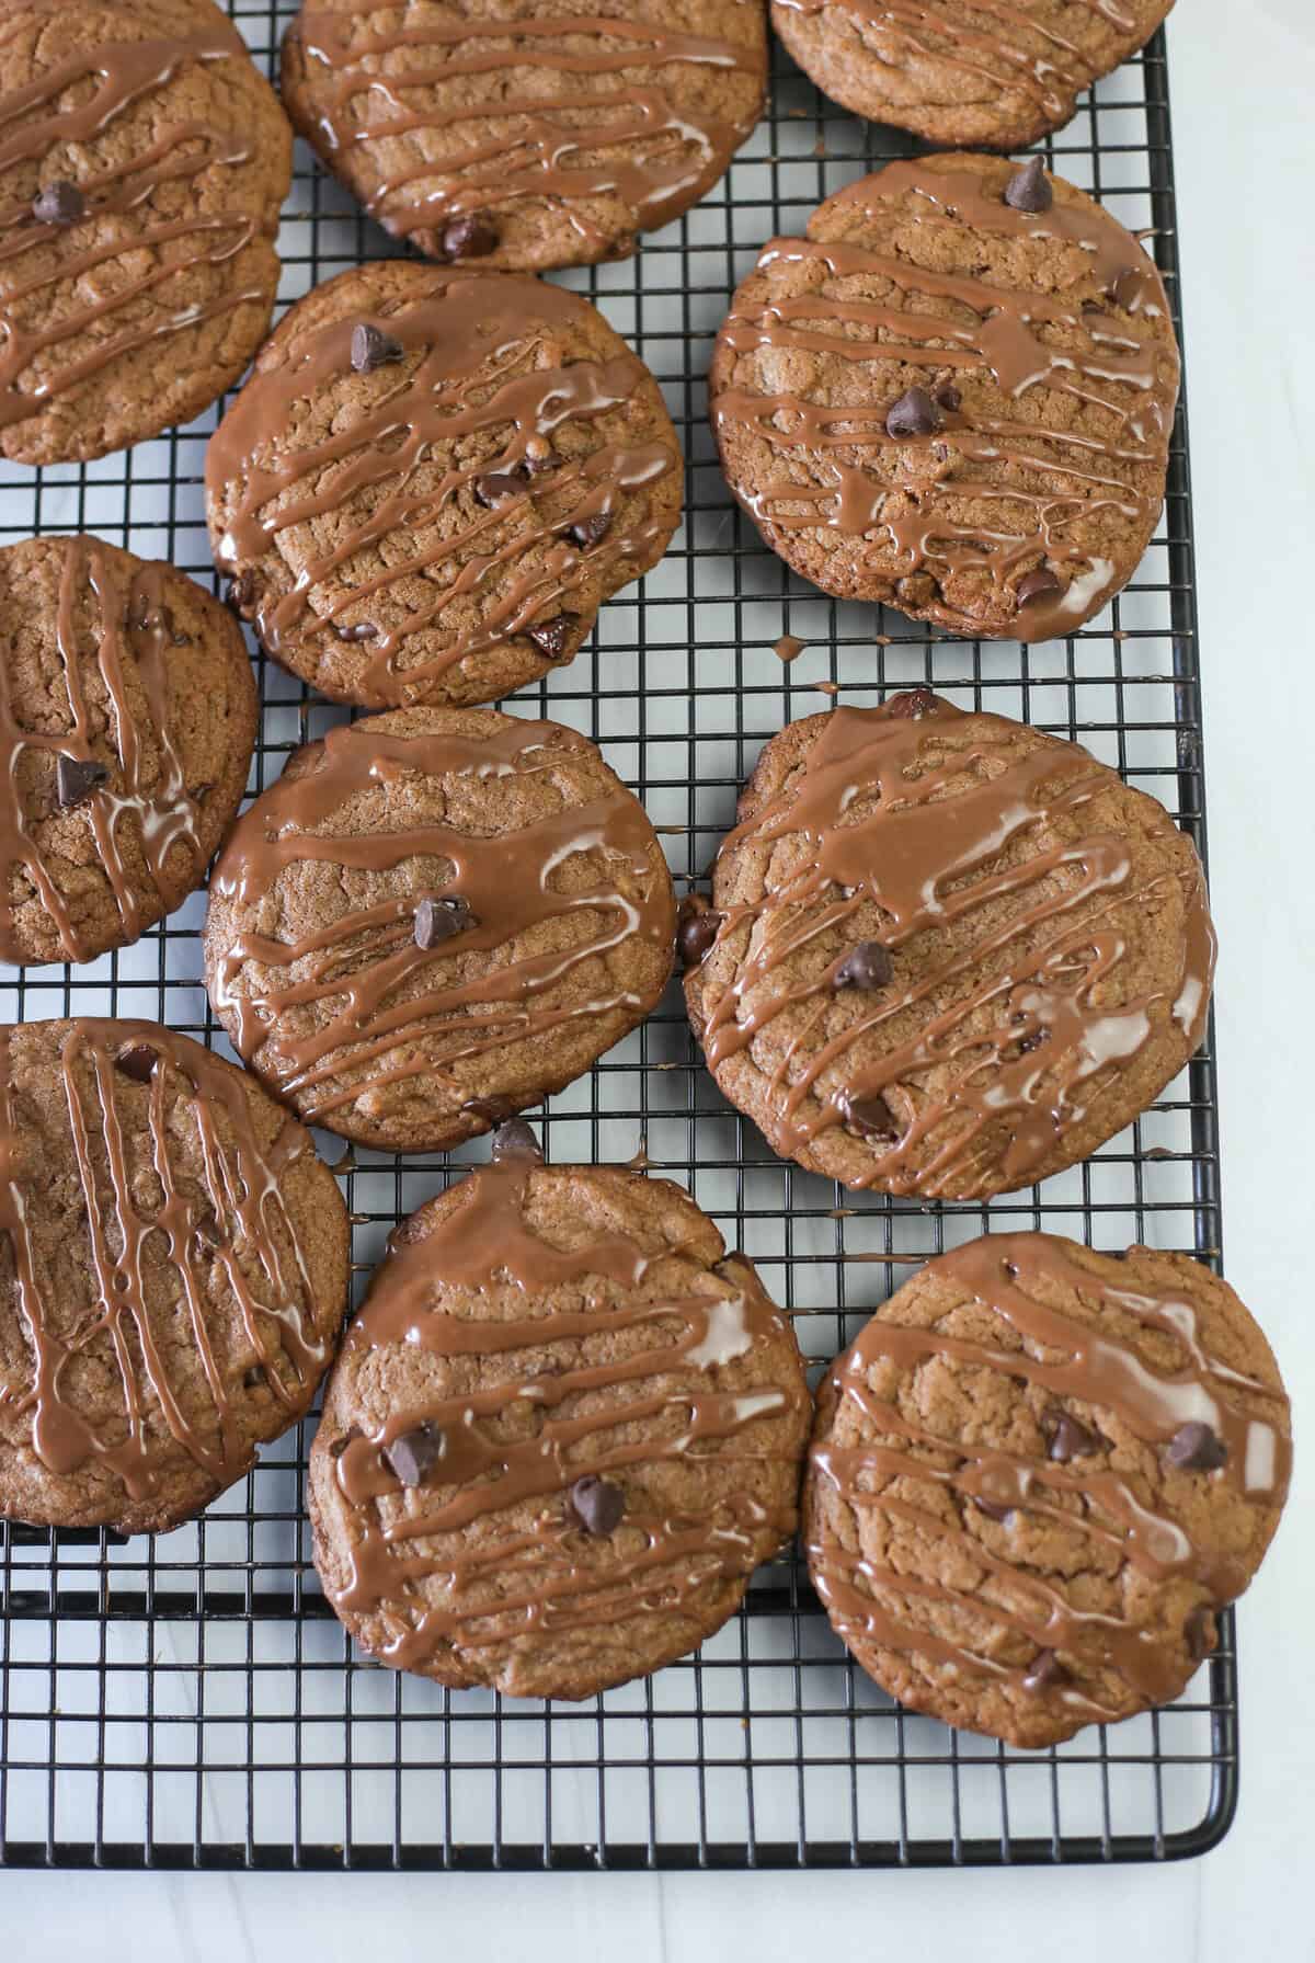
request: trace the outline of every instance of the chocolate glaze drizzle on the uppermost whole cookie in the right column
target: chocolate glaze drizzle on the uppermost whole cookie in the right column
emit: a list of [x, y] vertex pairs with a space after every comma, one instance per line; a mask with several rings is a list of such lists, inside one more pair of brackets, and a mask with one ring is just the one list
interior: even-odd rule
[[[844, 196], [875, 216], [883, 202], [907, 192], [922, 200], [911, 218], [917, 226], [962, 222], [1001, 238], [1058, 238], [1076, 243], [1089, 253], [1091, 281], [1101, 291], [1119, 283], [1119, 304], [1134, 320], [1152, 320], [1162, 312], [1154, 267], [1140, 251], [1131, 257], [1129, 236], [1105, 212], [1058, 200], [1044, 212], [1021, 212], [999, 196], [985, 196], [968, 171], [926, 171], [917, 161], [887, 163], [875, 177], [852, 185]], [[789, 461], [791, 453], [803, 450], [813, 463], [813, 481], [799, 483], [785, 473], [754, 497], [736, 493], [746, 508], [760, 524], [779, 530], [828, 526], [846, 536], [885, 532], [907, 557], [909, 571], [930, 569], [938, 575], [981, 567], [989, 571], [997, 591], [1017, 585], [1025, 561], [1036, 557], [1040, 544], [1056, 569], [1068, 567], [1068, 579], [1058, 595], [1034, 597], [1019, 609], [1017, 632], [1021, 640], [1046, 640], [1064, 632], [1066, 622], [1085, 614], [1093, 599], [1113, 585], [1115, 571], [1072, 536], [1076, 518], [1109, 504], [1125, 516], [1140, 518], [1148, 528], [1158, 510], [1158, 499], [1152, 508], [1117, 473], [1103, 469], [1101, 459], [1107, 465], [1166, 465], [1178, 385], [1176, 377], [1172, 385], [1164, 379], [1164, 349], [1111, 314], [1083, 306], [1079, 296], [1013, 291], [968, 275], [926, 271], [848, 241], [771, 239], [758, 267], [763, 271], [779, 261], [815, 263], [828, 279], [879, 275], [905, 300], [883, 304], [803, 294], [763, 304], [756, 312], [730, 314], [720, 338], [736, 353], [779, 347], [862, 365], [875, 347], [883, 359], [901, 359], [936, 377], [987, 367], [999, 389], [1015, 400], [1044, 387], [1083, 404], [1099, 404], [1113, 418], [1117, 434], [1097, 440], [1083, 432], [987, 418], [970, 426], [966, 414], [946, 410], [938, 434], [891, 438], [885, 432], [889, 402], [869, 410], [826, 408], [791, 391], [758, 395], [724, 389], [712, 404], [718, 434], [744, 424], [779, 450], [783, 459]], [[919, 314], [909, 308], [913, 294], [954, 300], [975, 320], [970, 326], [962, 318]], [[836, 328], [850, 322], [868, 332], [848, 336], [803, 324], [818, 322], [820, 314], [834, 320]], [[1056, 328], [1081, 336], [1079, 349], [1046, 340], [1046, 330]], [[844, 453], [856, 444], [879, 446], [879, 471], [871, 463], [846, 461]], [[936, 444], [942, 450], [954, 448], [960, 459], [944, 483], [928, 467]], [[1001, 485], [964, 471], [999, 461], [1015, 465], [1019, 481]], [[1036, 477], [1052, 483], [1034, 489], [1030, 479]], [[1081, 487], [1079, 499], [1074, 499], [1074, 487]], [[956, 524], [942, 514], [946, 497], [975, 497], [999, 506], [995, 528]], [[891, 506], [897, 506], [893, 516]], [[1026, 514], [1023, 526], [1019, 510]]]

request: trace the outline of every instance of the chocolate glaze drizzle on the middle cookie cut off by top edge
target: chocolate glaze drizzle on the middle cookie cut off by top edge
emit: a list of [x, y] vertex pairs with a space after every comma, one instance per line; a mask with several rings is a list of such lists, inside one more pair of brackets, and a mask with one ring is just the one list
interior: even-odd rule
[[[428, 20], [424, 26], [371, 31], [357, 39], [361, 20], [369, 22], [383, 12], [396, 10], [391, 4], [359, 6], [349, 14], [308, 8], [300, 18], [306, 57], [322, 63], [334, 77], [330, 106], [320, 114], [320, 137], [330, 153], [353, 145], [371, 149], [412, 130], [434, 132], [434, 118], [408, 108], [406, 94], [455, 77], [489, 77], [510, 69], [530, 71], [534, 77], [614, 77], [614, 86], [605, 94], [593, 88], [571, 92], [569, 86], [557, 96], [540, 94], [536, 86], [528, 86], [524, 94], [493, 98], [481, 92], [467, 110], [446, 116], [446, 130], [465, 130], [491, 116], [528, 118], [528, 130], [510, 143], [479, 141], [475, 133], [447, 155], [385, 179], [367, 200], [367, 210], [398, 238], [442, 228], [463, 214], [548, 198], [559, 200], [575, 232], [599, 245], [605, 243], [603, 234], [591, 224], [581, 200], [608, 192], [620, 192], [636, 212], [640, 230], [652, 232], [716, 183], [744, 132], [712, 114], [701, 116], [691, 106], [677, 110], [656, 73], [642, 84], [626, 77], [636, 69], [661, 71], [695, 63], [740, 69], [760, 90], [765, 82], [762, 47], [677, 33], [658, 22], [597, 14], [451, 24]], [[520, 45], [508, 45], [512, 39]], [[589, 49], [567, 45], [579, 41], [591, 43]], [[620, 45], [606, 47], [608, 41]], [[432, 67], [389, 71], [387, 57], [402, 47], [442, 53]], [[385, 96], [391, 110], [387, 122], [361, 120], [353, 104], [367, 92], [375, 100]], [[581, 116], [589, 116], [589, 122], [575, 120]], [[628, 155], [610, 163], [583, 161], [612, 145], [624, 145]], [[687, 155], [691, 149], [693, 155]], [[412, 196], [414, 185], [438, 177], [455, 177], [457, 185]]]

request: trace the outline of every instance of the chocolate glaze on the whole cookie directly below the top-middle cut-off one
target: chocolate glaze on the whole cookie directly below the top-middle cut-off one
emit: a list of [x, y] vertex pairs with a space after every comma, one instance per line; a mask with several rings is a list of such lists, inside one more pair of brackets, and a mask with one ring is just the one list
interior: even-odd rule
[[[332, 636], [347, 607], [357, 609], [398, 579], [428, 573], [436, 587], [434, 603], [410, 614], [400, 632], [377, 630], [369, 662], [353, 683], [355, 701], [381, 707], [396, 695], [383, 683], [398, 671], [398, 650], [410, 634], [442, 620], [453, 599], [475, 595], [481, 601], [479, 626], [455, 634], [438, 656], [406, 667], [410, 691], [422, 693], [428, 681], [467, 656], [569, 609], [591, 561], [642, 561], [665, 536], [665, 524], [644, 514], [626, 534], [614, 532], [610, 520], [618, 514], [622, 491], [642, 491], [679, 465], [673, 450], [663, 444], [601, 446], [577, 461], [552, 453], [552, 436], [561, 424], [591, 422], [618, 408], [648, 373], [632, 353], [534, 367], [553, 328], [569, 334], [579, 324], [579, 308], [575, 294], [524, 275], [434, 273], [430, 296], [398, 310], [383, 308], [369, 322], [404, 355], [402, 363], [381, 371], [379, 395], [353, 412], [347, 428], [308, 444], [283, 463], [261, 461], [271, 432], [287, 430], [294, 402], [349, 373], [359, 322], [336, 320], [310, 330], [287, 347], [277, 367], [257, 369], [206, 451], [206, 483], [216, 503], [224, 501], [228, 487], [243, 485], [241, 503], [216, 548], [226, 571], [237, 573], [243, 561], [259, 561], [285, 532], [340, 512], [359, 491], [381, 487], [383, 493], [371, 518], [349, 530], [336, 550], [314, 550], [289, 593], [257, 603], [257, 632], [273, 656], [289, 636]], [[499, 432], [502, 448], [497, 457], [483, 455], [449, 469], [432, 491], [410, 491], [410, 479], [434, 446], [483, 432]], [[526, 465], [534, 467], [540, 459], [542, 467], [530, 479]], [[332, 573], [398, 530], [432, 520], [455, 503], [461, 487], [485, 473], [522, 473], [526, 481], [455, 538], [353, 581], [336, 609], [316, 612], [314, 591]], [[571, 530], [591, 518], [606, 518], [608, 526], [595, 544], [575, 544]], [[546, 548], [540, 567], [524, 571], [500, 599], [493, 597], [489, 587], [499, 571], [536, 546]]]

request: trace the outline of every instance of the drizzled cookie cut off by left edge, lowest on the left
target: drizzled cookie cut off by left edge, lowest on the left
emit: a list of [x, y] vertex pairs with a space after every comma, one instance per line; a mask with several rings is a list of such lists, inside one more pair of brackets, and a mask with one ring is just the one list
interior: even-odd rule
[[157, 1023], [0, 1031], [0, 1515], [159, 1533], [306, 1413], [347, 1211], [253, 1078]]

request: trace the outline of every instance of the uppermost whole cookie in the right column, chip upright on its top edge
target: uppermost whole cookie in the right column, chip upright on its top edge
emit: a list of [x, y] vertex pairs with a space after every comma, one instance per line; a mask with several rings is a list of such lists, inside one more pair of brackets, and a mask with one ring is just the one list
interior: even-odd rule
[[736, 499], [838, 599], [954, 634], [1070, 634], [1164, 504], [1178, 345], [1083, 190], [999, 157], [887, 163], [771, 239], [716, 338]]

